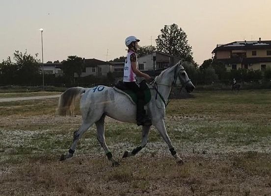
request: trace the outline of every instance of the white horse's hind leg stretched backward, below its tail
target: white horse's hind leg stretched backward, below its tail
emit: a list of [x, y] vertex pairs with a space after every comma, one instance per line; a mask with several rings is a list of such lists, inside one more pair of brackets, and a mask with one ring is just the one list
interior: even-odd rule
[[74, 154], [76, 144], [78, 140], [82, 137], [83, 133], [92, 125], [93, 123], [85, 123], [83, 122], [81, 127], [79, 128], [78, 131], [74, 132], [74, 139], [73, 139], [73, 144], [71, 148], [69, 149], [69, 152], [66, 155], [61, 155], [60, 161], [64, 161], [65, 159], [71, 158]]

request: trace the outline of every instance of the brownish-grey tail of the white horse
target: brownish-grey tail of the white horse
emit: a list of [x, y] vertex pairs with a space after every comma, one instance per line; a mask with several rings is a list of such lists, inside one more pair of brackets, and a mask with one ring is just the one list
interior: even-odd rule
[[75, 100], [85, 92], [83, 87], [71, 87], [63, 92], [58, 101], [58, 115], [73, 115], [75, 109]]

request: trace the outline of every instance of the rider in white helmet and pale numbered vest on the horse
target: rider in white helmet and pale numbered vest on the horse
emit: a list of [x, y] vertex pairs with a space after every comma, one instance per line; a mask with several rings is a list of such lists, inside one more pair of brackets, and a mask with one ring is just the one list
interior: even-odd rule
[[146, 115], [144, 110], [144, 92], [140, 89], [139, 84], [136, 82], [136, 75], [144, 77], [150, 80], [151, 77], [148, 74], [144, 74], [137, 69], [137, 57], [136, 52], [138, 49], [138, 43], [140, 40], [135, 36], [129, 36], [125, 39], [125, 45], [128, 47], [128, 54], [125, 59], [123, 82], [127, 88], [134, 91], [137, 95], [136, 103], [136, 124], [138, 126], [151, 125], [151, 119]]

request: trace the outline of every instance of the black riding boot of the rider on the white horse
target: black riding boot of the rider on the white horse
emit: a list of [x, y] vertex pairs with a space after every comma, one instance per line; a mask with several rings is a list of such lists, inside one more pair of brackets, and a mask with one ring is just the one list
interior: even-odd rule
[[144, 100], [138, 99], [136, 106], [136, 124], [138, 126], [151, 126], [152, 121], [149, 116], [146, 115], [146, 111], [144, 110]]

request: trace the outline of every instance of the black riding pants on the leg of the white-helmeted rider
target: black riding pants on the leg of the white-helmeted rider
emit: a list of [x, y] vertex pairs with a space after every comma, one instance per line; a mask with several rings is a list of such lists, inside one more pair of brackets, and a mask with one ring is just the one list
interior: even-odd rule
[[136, 103], [136, 120], [141, 121], [145, 118], [145, 110], [144, 110], [144, 91], [140, 88], [139, 84], [136, 82], [124, 82], [125, 86], [135, 92], [137, 96]]

